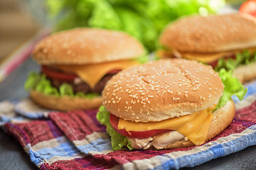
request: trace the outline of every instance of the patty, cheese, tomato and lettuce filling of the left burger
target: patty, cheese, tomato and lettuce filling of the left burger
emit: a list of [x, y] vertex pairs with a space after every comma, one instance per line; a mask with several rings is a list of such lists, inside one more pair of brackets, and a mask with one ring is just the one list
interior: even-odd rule
[[43, 74], [31, 73], [25, 89], [46, 95], [100, 96], [106, 82], [121, 69], [139, 64], [137, 60], [119, 60], [85, 65], [43, 65]]

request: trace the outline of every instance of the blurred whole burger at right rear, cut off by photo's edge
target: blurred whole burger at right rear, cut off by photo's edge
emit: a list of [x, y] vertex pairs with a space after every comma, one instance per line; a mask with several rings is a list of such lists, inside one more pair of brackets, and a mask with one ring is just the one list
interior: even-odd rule
[[160, 58], [183, 57], [230, 70], [241, 82], [256, 78], [256, 19], [242, 13], [190, 16], [161, 33]]

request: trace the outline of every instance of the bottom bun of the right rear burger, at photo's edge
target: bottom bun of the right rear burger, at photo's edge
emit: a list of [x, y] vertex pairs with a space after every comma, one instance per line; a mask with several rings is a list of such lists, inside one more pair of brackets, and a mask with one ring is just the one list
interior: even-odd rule
[[234, 77], [238, 78], [241, 83], [251, 81], [256, 78], [256, 62], [244, 64], [236, 68], [233, 72]]

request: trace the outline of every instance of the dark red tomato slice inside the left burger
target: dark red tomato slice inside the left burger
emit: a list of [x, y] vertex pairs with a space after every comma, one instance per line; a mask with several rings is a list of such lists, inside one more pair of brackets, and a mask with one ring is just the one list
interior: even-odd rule
[[41, 70], [44, 74], [46, 74], [47, 77], [50, 77], [52, 79], [59, 79], [64, 81], [73, 81], [75, 79], [75, 74], [66, 74], [63, 72], [57, 72], [53, 69], [49, 69], [47, 66], [42, 66]]

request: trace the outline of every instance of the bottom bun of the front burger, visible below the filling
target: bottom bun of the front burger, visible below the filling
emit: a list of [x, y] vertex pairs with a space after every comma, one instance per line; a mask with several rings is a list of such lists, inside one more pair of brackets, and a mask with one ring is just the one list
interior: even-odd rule
[[[206, 142], [213, 139], [220, 132], [230, 125], [235, 116], [235, 104], [233, 101], [228, 101], [222, 108], [213, 112], [213, 120], [210, 122]], [[190, 140], [179, 140], [174, 142], [164, 149], [174, 149], [178, 147], [192, 147], [194, 144]]]

